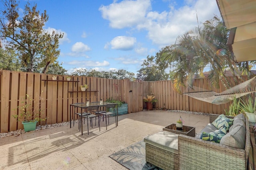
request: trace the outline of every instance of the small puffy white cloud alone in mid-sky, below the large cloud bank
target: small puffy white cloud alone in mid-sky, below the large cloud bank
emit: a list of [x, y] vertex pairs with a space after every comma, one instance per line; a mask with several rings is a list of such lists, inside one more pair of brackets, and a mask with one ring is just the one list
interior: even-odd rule
[[115, 37], [110, 42], [112, 49], [124, 50], [124, 51], [133, 49], [135, 43], [136, 43], [136, 38], [126, 37], [126, 36]]

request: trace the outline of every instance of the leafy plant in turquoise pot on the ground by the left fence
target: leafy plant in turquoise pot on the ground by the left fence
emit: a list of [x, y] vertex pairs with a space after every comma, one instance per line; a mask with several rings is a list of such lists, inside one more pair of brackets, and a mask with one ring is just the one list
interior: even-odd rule
[[[42, 110], [32, 108], [32, 99], [26, 94], [24, 101], [21, 102], [22, 106], [17, 107], [19, 114], [12, 115], [17, 121], [22, 121], [24, 131], [34, 131], [36, 129], [36, 123], [38, 121], [45, 121], [47, 118], [41, 118]], [[40, 106], [39, 106], [40, 107]]]

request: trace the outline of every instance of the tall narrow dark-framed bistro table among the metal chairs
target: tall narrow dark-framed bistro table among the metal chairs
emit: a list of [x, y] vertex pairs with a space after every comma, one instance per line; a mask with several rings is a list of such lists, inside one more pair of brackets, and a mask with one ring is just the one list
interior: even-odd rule
[[[71, 107], [79, 107], [81, 108], [81, 113], [82, 113], [82, 109], [86, 109], [88, 108], [89, 106], [100, 106], [100, 107], [104, 107], [104, 106], [107, 106], [108, 104], [113, 104], [113, 103], [107, 103], [107, 102], [103, 102], [102, 104], [100, 104], [100, 102], [94, 102], [94, 103], [89, 103], [89, 104], [86, 104], [86, 103], [79, 103], [79, 104], [70, 104], [70, 128], [71, 128]], [[81, 118], [81, 123], [80, 123], [80, 126], [81, 126], [81, 133], [83, 135], [83, 121], [82, 121], [82, 116], [80, 116]], [[73, 120], [74, 121], [74, 120]], [[118, 122], [118, 107], [116, 108], [116, 125]]]

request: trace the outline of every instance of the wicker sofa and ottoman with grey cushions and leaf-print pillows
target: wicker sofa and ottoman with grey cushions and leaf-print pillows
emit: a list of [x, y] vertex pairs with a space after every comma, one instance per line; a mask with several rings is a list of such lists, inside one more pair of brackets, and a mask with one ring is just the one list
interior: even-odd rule
[[[226, 123], [229, 119], [232, 122]], [[209, 121], [196, 137], [163, 129], [144, 138], [146, 161], [162, 169], [186, 170], [207, 165], [207, 169], [246, 170], [251, 148], [247, 117], [242, 113], [236, 117], [210, 114]], [[214, 125], [220, 125], [220, 130]], [[202, 139], [205, 136], [208, 140]]]

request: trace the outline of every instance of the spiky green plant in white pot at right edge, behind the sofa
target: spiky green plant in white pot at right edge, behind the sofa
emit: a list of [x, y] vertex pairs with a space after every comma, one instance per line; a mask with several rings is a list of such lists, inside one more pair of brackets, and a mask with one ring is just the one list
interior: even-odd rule
[[249, 96], [247, 101], [240, 103], [241, 112], [244, 112], [248, 117], [248, 121], [256, 123], [256, 100], [252, 101], [252, 97]]

